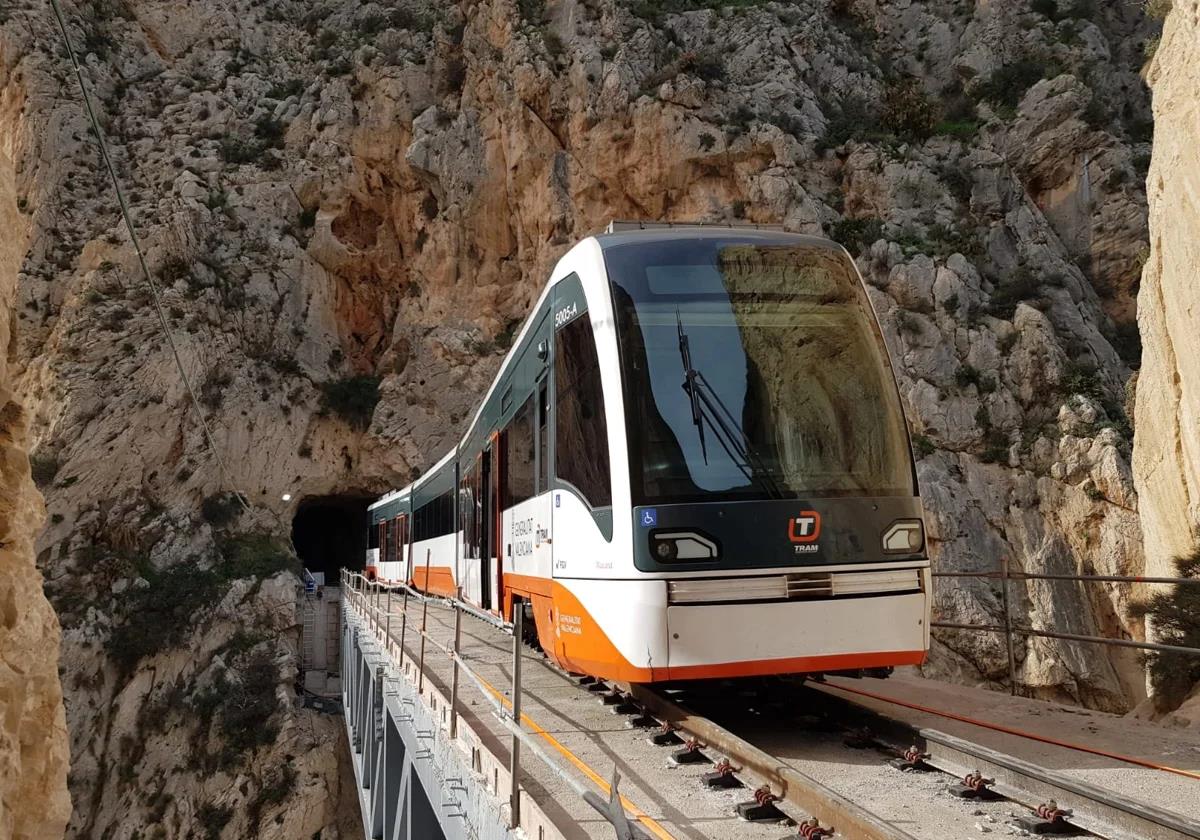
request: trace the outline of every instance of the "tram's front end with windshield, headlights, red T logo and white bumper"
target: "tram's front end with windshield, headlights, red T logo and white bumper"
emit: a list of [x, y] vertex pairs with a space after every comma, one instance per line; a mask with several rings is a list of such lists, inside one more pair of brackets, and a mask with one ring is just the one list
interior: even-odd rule
[[846, 252], [760, 230], [605, 239], [632, 559], [666, 581], [670, 678], [922, 662], [916, 472]]

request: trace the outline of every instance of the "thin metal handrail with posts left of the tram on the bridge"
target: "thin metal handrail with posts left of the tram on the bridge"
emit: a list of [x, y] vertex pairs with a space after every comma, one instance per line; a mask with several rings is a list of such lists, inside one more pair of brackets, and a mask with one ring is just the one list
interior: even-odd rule
[[[390, 644], [392, 643], [391, 628], [390, 628], [391, 593], [395, 592], [396, 589], [402, 589], [404, 592], [404, 598], [406, 598], [406, 610], [401, 616], [402, 618], [401, 640], [403, 640], [403, 632], [404, 630], [407, 630], [408, 626], [408, 611], [407, 611], [408, 598], [416, 598], [418, 600], [422, 601], [422, 607], [427, 607], [430, 601], [438, 601], [443, 605], [448, 605], [451, 608], [454, 608], [455, 640], [452, 648], [448, 648], [438, 643], [438, 641], [433, 638], [431, 634], [427, 632], [425, 626], [421, 626], [421, 629], [416, 631], [421, 636], [421, 656], [418, 666], [421, 671], [421, 674], [419, 677], [419, 680], [424, 683], [425, 678], [424, 649], [425, 649], [425, 643], [428, 642], [428, 644], [431, 644], [436, 650], [445, 654], [455, 666], [454, 680], [451, 684], [451, 692], [450, 692], [451, 737], [455, 737], [457, 734], [455, 730], [457, 728], [456, 724], [458, 718], [457, 695], [458, 695], [460, 671], [467, 676], [467, 678], [472, 682], [472, 684], [475, 686], [479, 694], [482, 695], [484, 700], [487, 701], [487, 703], [492, 707], [492, 713], [498, 718], [500, 725], [509, 732], [511, 732], [514, 738], [514, 744], [512, 744], [514, 750], [511, 752], [512, 790], [510, 792], [510, 803], [518, 802], [517, 791], [518, 791], [518, 776], [521, 767], [520, 767], [520, 752], [515, 748], [517, 743], [521, 743], [524, 746], [527, 746], [534, 755], [541, 758], [541, 761], [558, 778], [565, 781], [568, 786], [570, 786], [571, 790], [574, 790], [580, 796], [580, 798], [583, 799], [583, 802], [586, 802], [592, 809], [594, 809], [601, 817], [605, 818], [605, 821], [607, 821], [613, 827], [613, 830], [616, 832], [617, 835], [617, 840], [646, 840], [644, 833], [634, 827], [630, 823], [629, 817], [626, 817], [625, 815], [625, 806], [622, 802], [622, 796], [618, 790], [618, 785], [620, 784], [620, 774], [617, 772], [616, 766], [613, 767], [613, 779], [610, 785], [610, 798], [606, 802], [599, 793], [596, 793], [593, 790], [589, 790], [583, 782], [576, 779], [560, 762], [557, 762], [548, 752], [546, 752], [546, 750], [542, 749], [541, 744], [538, 743], [538, 739], [534, 737], [533, 733], [526, 732], [521, 727], [518, 692], [521, 690], [520, 668], [521, 668], [522, 640], [520, 632], [512, 634], [514, 696], [511, 701], [512, 710], [509, 710], [504, 707], [503, 701], [496, 694], [496, 691], [490, 690], [482, 677], [475, 673], [475, 671], [470, 667], [470, 665], [468, 665], [463, 660], [462, 655], [460, 654], [458, 646], [461, 642], [461, 616], [463, 612], [484, 618], [485, 620], [490, 622], [491, 624], [498, 626], [502, 630], [510, 631], [512, 630], [511, 625], [498, 622], [493, 616], [487, 616], [485, 613], [480, 613], [479, 611], [472, 610], [469, 605], [462, 604], [455, 599], [440, 598], [437, 595], [427, 595], [416, 589], [415, 587], [409, 586], [408, 583], [370, 581], [365, 575], [349, 571], [348, 569], [342, 569], [341, 572], [342, 572], [341, 574], [342, 587], [349, 594], [349, 598], [346, 600], [352, 606], [359, 606], [361, 604], [364, 612], [366, 612], [364, 619], [371, 624], [372, 632], [377, 638], [379, 638], [379, 620], [378, 620], [378, 613], [380, 612], [379, 601], [382, 600], [383, 593], [384, 592], [388, 593], [386, 619], [384, 623], [385, 629], [384, 629], [384, 636], [382, 638], [382, 641], [384, 642], [385, 650], [390, 650]], [[368, 594], [368, 588], [374, 590], [373, 594], [376, 595], [376, 605], [373, 607], [371, 605], [371, 595]], [[424, 624], [425, 623], [422, 622], [422, 625]], [[403, 658], [404, 658], [403, 647], [401, 647], [400, 649], [400, 656], [401, 656], [401, 667], [403, 668]], [[512, 828], [516, 828], [520, 822], [518, 806], [514, 808], [512, 804], [510, 804], [510, 815], [514, 823]], [[630, 811], [630, 816], [632, 816], [636, 820], [636, 815], [632, 811]]]

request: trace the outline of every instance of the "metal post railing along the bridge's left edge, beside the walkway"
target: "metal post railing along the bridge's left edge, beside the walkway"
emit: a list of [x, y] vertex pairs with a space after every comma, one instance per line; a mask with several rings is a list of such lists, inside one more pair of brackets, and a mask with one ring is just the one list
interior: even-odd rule
[[[610, 784], [608, 799], [605, 800], [594, 790], [590, 790], [582, 781], [580, 781], [566, 767], [556, 761], [541, 744], [538, 742], [536, 736], [532, 732], [527, 732], [521, 726], [521, 661], [522, 661], [522, 623], [523, 613], [521, 610], [514, 611], [514, 624], [504, 624], [494, 616], [472, 608], [467, 604], [462, 604], [455, 599], [440, 598], [437, 595], [426, 595], [418, 589], [406, 584], [406, 583], [391, 583], [384, 581], [371, 581], [366, 576], [353, 572], [347, 569], [342, 569], [341, 574], [342, 584], [342, 599], [352, 608], [354, 608], [371, 628], [372, 634], [384, 646], [384, 649], [392, 652], [394, 647], [397, 646], [397, 640], [392, 635], [392, 598], [400, 596], [402, 599], [402, 610], [400, 613], [400, 638], [398, 638], [398, 654], [401, 658], [401, 667], [403, 667], [404, 656], [404, 640], [408, 632], [415, 632], [420, 637], [420, 646], [416, 660], [418, 671], [418, 695], [421, 694], [425, 685], [425, 652], [426, 646], [432, 647], [436, 652], [446, 656], [452, 665], [452, 677], [450, 684], [450, 718], [448, 722], [446, 731], [452, 740], [458, 734], [458, 688], [460, 688], [460, 674], [464, 674], [467, 679], [474, 685], [476, 691], [484, 697], [485, 701], [491, 706], [492, 714], [500, 721], [502, 726], [506, 728], [512, 736], [512, 743], [510, 748], [510, 763], [509, 763], [509, 775], [511, 779], [511, 788], [509, 791], [509, 820], [510, 828], [517, 828], [521, 824], [521, 798], [520, 798], [520, 775], [521, 775], [521, 748], [524, 746], [532, 751], [538, 758], [540, 758], [558, 778], [565, 781], [572, 791], [575, 791], [580, 798], [583, 799], [590, 808], [593, 808], [601, 817], [604, 817], [616, 832], [617, 840], [647, 840], [646, 834], [636, 828], [625, 814], [625, 805], [623, 797], [618, 790], [620, 784], [620, 774], [617, 772], [616, 766], [613, 766], [612, 781]], [[416, 628], [409, 628], [408, 622], [408, 604], [410, 600], [415, 600], [421, 605], [421, 624]], [[430, 602], [436, 602], [440, 606], [449, 607], [454, 610], [454, 643], [451, 647], [446, 647], [439, 643], [428, 632], [427, 629], [427, 616]], [[504, 630], [505, 632], [511, 631], [512, 634], [512, 700], [506, 701], [504, 696], [492, 688], [486, 679], [484, 679], [479, 673], [476, 673], [470, 665], [468, 665], [463, 658], [460, 655], [460, 648], [462, 642], [462, 616], [463, 613], [480, 618], [497, 628]], [[636, 821], [636, 817], [635, 817]]]

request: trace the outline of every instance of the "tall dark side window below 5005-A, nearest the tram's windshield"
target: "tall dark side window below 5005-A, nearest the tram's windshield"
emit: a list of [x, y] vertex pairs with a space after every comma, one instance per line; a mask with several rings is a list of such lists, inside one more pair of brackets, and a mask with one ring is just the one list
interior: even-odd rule
[[612, 504], [600, 359], [586, 316], [554, 335], [554, 463], [589, 505]]

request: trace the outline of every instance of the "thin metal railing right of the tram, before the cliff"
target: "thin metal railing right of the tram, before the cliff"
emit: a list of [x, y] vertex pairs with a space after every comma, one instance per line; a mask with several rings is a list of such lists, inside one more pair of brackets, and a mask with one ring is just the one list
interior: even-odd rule
[[934, 577], [959, 577], [959, 578], [985, 578], [998, 580], [1001, 582], [1000, 600], [1003, 610], [1002, 624], [972, 624], [961, 622], [930, 622], [930, 626], [944, 630], [970, 630], [976, 632], [998, 632], [1004, 635], [1004, 646], [1008, 650], [1008, 686], [1009, 692], [1016, 694], [1016, 658], [1013, 652], [1013, 636], [1030, 636], [1037, 638], [1060, 638], [1068, 642], [1085, 642], [1088, 644], [1108, 644], [1122, 648], [1136, 648], [1153, 653], [1180, 653], [1190, 656], [1200, 656], [1200, 648], [1183, 644], [1163, 644], [1160, 642], [1140, 642], [1134, 638], [1112, 638], [1109, 636], [1087, 636], [1074, 632], [1058, 632], [1016, 624], [1013, 620], [1009, 606], [1008, 584], [1013, 581], [1074, 581], [1082, 583], [1166, 583], [1178, 586], [1200, 586], [1200, 577], [1151, 577], [1140, 575], [1068, 575], [1050, 572], [1014, 571], [1009, 569], [1008, 558], [1001, 558], [996, 571], [934, 571]]

